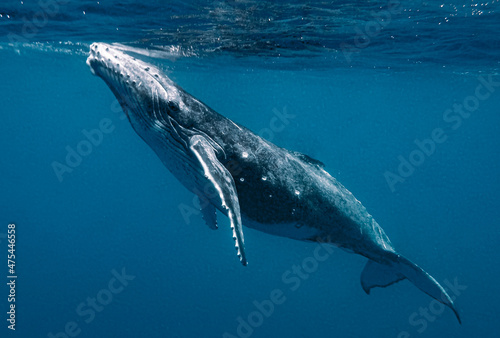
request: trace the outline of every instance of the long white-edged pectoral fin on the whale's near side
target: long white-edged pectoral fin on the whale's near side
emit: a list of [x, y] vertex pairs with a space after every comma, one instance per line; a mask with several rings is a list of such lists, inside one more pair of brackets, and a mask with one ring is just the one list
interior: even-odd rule
[[[194, 135], [189, 138], [189, 148], [203, 167], [205, 177], [213, 185], [220, 199], [212, 203], [221, 203], [221, 207], [227, 210], [227, 215], [233, 230], [233, 239], [238, 253], [238, 257], [243, 265], [247, 265], [245, 255], [245, 243], [243, 239], [243, 229], [241, 224], [240, 203], [236, 186], [231, 173], [219, 162], [213, 146], [201, 135]], [[205, 211], [204, 217], [205, 217]], [[207, 220], [207, 219], [205, 219]], [[208, 221], [207, 221], [208, 223]], [[209, 224], [210, 226], [210, 224]]]

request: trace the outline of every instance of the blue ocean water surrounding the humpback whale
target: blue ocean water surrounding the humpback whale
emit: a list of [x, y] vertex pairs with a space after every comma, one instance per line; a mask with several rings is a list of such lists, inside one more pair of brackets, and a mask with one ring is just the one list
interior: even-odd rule
[[[0, 31], [2, 337], [497, 334], [499, 1], [3, 1]], [[367, 296], [366, 259], [338, 249], [313, 260], [317, 244], [245, 228], [242, 267], [224, 216], [181, 212], [192, 194], [85, 64], [94, 41], [148, 48], [217, 112], [324, 162], [463, 324], [408, 281]]]

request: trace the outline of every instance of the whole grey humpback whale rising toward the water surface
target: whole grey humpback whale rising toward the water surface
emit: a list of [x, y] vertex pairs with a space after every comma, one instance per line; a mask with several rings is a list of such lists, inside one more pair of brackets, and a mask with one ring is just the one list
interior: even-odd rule
[[324, 165], [280, 148], [218, 114], [122, 47], [93, 43], [87, 59], [118, 99], [136, 133], [200, 199], [207, 225], [229, 218], [237, 255], [247, 264], [242, 225], [302, 241], [325, 242], [368, 258], [368, 294], [408, 279], [460, 316], [446, 290], [400, 255], [365, 207]]

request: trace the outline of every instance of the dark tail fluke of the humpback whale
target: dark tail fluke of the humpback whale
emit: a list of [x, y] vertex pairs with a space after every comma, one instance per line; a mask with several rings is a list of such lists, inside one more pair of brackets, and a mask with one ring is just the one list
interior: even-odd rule
[[405, 257], [391, 253], [387, 263], [369, 260], [361, 273], [361, 286], [369, 294], [374, 287], [386, 287], [408, 279], [417, 288], [453, 310], [461, 324], [460, 316], [446, 290], [427, 272]]

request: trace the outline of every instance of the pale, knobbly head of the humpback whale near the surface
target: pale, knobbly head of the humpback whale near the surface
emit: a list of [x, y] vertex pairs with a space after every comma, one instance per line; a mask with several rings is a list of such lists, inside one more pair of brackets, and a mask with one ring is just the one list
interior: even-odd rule
[[182, 90], [158, 67], [124, 52], [119, 46], [93, 43], [87, 65], [118, 99], [132, 125], [169, 125], [186, 111]]

